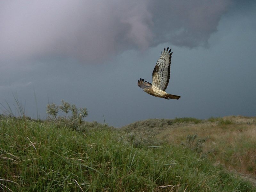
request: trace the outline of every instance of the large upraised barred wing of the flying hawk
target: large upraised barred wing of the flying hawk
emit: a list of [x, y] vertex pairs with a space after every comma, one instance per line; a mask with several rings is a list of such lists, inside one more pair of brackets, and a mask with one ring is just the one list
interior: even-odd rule
[[156, 66], [153, 70], [153, 80], [152, 80], [152, 86], [157, 87], [158, 89], [161, 89], [165, 91], [167, 88], [167, 85], [169, 84], [170, 79], [170, 70], [171, 70], [171, 58], [172, 58], [172, 52], [170, 49], [168, 51], [169, 47], [161, 54], [160, 58], [156, 62]]

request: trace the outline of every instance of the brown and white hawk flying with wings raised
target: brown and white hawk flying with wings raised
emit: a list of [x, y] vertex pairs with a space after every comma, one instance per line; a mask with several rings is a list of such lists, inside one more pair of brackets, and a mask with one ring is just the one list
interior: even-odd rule
[[138, 81], [138, 86], [143, 89], [146, 93], [153, 95], [155, 97], [162, 97], [164, 99], [180, 99], [178, 95], [171, 95], [165, 92], [169, 84], [170, 79], [170, 69], [171, 69], [171, 58], [172, 52], [169, 47], [161, 54], [160, 58], [156, 62], [156, 66], [153, 70], [152, 84], [141, 79]]

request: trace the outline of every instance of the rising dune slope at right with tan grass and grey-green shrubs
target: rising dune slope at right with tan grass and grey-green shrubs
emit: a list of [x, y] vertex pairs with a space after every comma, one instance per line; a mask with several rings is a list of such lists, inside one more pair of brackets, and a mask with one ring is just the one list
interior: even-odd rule
[[230, 171], [256, 180], [256, 117], [148, 119], [121, 129], [141, 137], [137, 140], [153, 138], [155, 142], [183, 147], [190, 142], [191, 149], [198, 140], [205, 140], [200, 154], [207, 156], [212, 164], [225, 165]]

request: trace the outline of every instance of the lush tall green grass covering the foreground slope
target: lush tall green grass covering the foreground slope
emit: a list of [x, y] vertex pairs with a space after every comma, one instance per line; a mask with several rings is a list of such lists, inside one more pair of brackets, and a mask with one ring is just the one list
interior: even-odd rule
[[76, 132], [53, 122], [2, 118], [0, 190], [256, 191], [189, 149], [136, 147], [127, 133], [94, 124]]

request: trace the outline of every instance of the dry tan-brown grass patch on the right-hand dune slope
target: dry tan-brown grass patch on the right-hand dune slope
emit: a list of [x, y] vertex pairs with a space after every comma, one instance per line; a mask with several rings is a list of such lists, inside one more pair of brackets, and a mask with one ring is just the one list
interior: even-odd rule
[[215, 164], [224, 164], [230, 170], [256, 176], [255, 118], [224, 117], [213, 122], [188, 124], [163, 130], [156, 137], [180, 145], [188, 135], [206, 138], [203, 153]]

